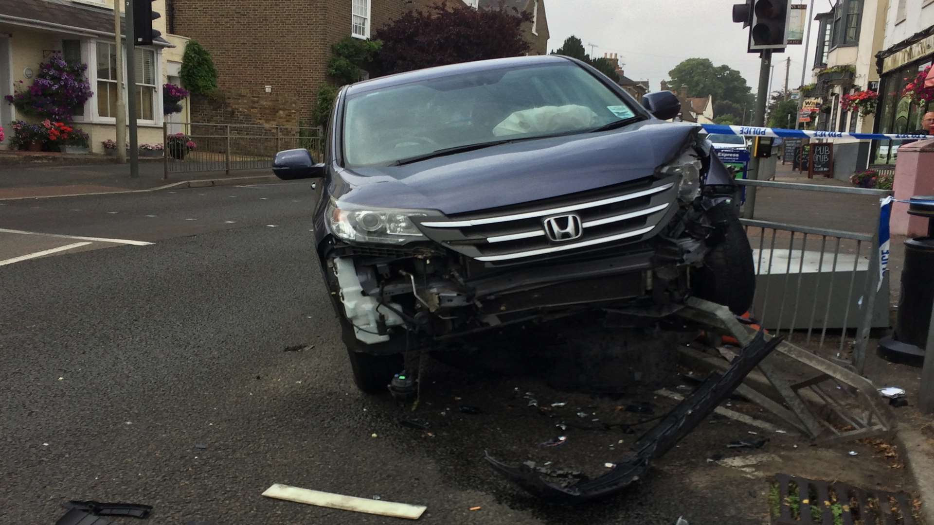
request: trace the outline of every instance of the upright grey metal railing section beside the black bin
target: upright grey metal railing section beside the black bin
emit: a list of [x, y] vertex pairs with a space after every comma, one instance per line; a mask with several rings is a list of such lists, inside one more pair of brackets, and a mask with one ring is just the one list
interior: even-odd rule
[[[752, 179], [738, 179], [737, 183], [783, 191], [880, 198], [892, 194], [888, 190]], [[839, 341], [835, 342], [838, 358], [842, 357], [852, 331], [855, 338], [852, 362], [860, 373], [880, 288], [878, 206], [872, 219], [875, 227], [870, 233], [741, 220], [753, 248], [757, 274], [753, 317], [776, 335], [785, 332], [789, 342], [797, 336], [804, 339], [805, 347], [814, 342], [818, 349], [837, 337], [839, 330]], [[887, 286], [887, 277], [883, 284]], [[887, 296], [886, 290], [884, 297]], [[887, 305], [883, 310], [887, 312]]]

